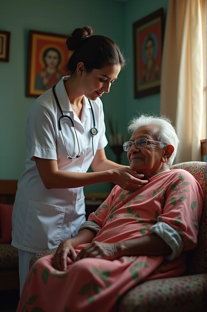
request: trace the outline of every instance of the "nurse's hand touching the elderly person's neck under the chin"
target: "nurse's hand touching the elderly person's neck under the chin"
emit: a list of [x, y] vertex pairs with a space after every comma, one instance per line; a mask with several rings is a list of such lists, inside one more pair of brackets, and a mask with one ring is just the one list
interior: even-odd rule
[[127, 191], [137, 191], [148, 183], [147, 180], [140, 180], [143, 174], [136, 173], [127, 167], [113, 169], [112, 174], [112, 182]]

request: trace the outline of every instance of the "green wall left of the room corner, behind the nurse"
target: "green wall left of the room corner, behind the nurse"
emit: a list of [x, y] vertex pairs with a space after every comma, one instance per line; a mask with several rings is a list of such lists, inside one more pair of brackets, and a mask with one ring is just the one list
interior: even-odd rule
[[[0, 62], [0, 179], [18, 179], [25, 168], [25, 119], [35, 100], [25, 96], [28, 31], [68, 34], [90, 25], [96, 34], [112, 38], [123, 48], [123, 20], [124, 4], [111, 0], [7, 0], [1, 4], [0, 29], [11, 32], [11, 46], [9, 63]], [[117, 105], [123, 106], [123, 85], [124, 72], [103, 97], [105, 112], [115, 115]], [[109, 148], [106, 153], [115, 159]]]

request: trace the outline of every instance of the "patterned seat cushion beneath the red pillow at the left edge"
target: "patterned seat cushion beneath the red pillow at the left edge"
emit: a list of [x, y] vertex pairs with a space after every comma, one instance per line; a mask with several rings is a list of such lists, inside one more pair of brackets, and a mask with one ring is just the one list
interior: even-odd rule
[[0, 269], [18, 268], [18, 249], [11, 244], [0, 244]]

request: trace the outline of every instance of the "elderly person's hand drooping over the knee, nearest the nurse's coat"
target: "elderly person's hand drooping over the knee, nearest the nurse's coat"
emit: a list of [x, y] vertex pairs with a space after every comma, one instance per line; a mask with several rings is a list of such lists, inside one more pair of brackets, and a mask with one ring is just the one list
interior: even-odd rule
[[73, 261], [76, 260], [76, 253], [71, 245], [71, 240], [66, 239], [65, 241], [62, 241], [55, 252], [55, 256], [53, 259], [53, 266], [55, 269], [59, 271], [65, 271], [67, 269], [67, 263], [66, 259], [67, 256], [70, 255]]

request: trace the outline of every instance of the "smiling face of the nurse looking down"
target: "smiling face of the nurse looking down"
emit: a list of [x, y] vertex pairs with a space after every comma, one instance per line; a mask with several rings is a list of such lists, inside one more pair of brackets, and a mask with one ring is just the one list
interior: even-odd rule
[[81, 77], [81, 88], [83, 94], [89, 100], [96, 100], [102, 94], [108, 93], [114, 80], [121, 70], [120, 64], [110, 64], [102, 69], [93, 69], [90, 73], [83, 71]]

